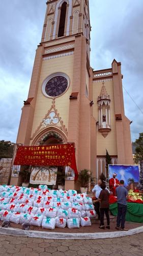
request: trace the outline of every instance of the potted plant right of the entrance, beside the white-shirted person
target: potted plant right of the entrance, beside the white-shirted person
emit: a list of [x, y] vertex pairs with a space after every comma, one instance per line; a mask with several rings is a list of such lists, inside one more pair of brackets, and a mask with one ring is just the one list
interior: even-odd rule
[[80, 170], [78, 174], [78, 181], [80, 183], [81, 193], [85, 193], [88, 191], [90, 178], [91, 178], [90, 170], [88, 169]]

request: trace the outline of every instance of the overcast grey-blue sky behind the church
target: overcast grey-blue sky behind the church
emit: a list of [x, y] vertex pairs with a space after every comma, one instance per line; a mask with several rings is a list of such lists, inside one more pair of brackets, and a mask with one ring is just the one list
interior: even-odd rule
[[[81, 0], [82, 1], [82, 0]], [[46, 0], [3, 0], [0, 5], [0, 140], [16, 141], [23, 100], [41, 40]], [[132, 141], [143, 132], [143, 1], [90, 0], [91, 66], [122, 63], [125, 114]]]

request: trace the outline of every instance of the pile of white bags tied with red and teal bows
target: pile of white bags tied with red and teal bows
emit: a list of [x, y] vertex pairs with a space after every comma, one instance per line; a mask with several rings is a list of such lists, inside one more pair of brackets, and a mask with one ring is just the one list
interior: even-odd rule
[[55, 227], [79, 228], [91, 226], [96, 212], [92, 198], [77, 194], [76, 190], [63, 191], [19, 186], [0, 186], [0, 220], [46, 229]]

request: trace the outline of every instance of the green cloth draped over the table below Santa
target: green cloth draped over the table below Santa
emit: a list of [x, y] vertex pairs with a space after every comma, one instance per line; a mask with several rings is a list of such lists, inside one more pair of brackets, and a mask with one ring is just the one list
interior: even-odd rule
[[[117, 216], [117, 203], [110, 204], [112, 215]], [[127, 203], [126, 221], [143, 223], [143, 204]]]

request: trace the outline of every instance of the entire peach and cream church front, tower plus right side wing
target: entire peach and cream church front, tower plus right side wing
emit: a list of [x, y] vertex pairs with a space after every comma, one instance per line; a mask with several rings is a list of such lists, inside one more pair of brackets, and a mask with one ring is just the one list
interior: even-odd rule
[[[42, 39], [16, 143], [75, 143], [78, 171], [98, 179], [106, 150], [113, 164], [133, 164], [130, 120], [124, 113], [121, 63], [90, 66], [89, 0], [47, 1]], [[11, 184], [18, 184], [11, 178]], [[74, 188], [66, 180], [65, 188]]]

